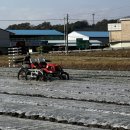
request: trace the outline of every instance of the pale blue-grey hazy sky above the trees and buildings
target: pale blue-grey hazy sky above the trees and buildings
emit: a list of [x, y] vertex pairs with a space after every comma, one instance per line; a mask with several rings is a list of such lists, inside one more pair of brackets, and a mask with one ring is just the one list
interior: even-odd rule
[[[30, 22], [64, 24], [87, 20], [90, 24], [103, 19], [130, 16], [130, 0], [0, 0], [0, 28]], [[23, 20], [23, 21], [22, 21]]]

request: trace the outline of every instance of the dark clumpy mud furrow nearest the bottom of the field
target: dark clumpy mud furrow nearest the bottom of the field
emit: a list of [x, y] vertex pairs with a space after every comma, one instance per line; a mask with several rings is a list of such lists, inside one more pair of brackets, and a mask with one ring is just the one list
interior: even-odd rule
[[[45, 117], [42, 116], [40, 117], [39, 115], [30, 115], [30, 116], [26, 116], [26, 113], [17, 113], [17, 112], [0, 112], [0, 115], [4, 115], [4, 116], [9, 116], [9, 117], [16, 117], [16, 118], [22, 118], [22, 119], [30, 119], [30, 120], [42, 120], [42, 121], [49, 121], [49, 122], [55, 122], [55, 123], [62, 123], [62, 124], [68, 124], [68, 125], [73, 125], [73, 126], [83, 126], [86, 128], [97, 128], [97, 130], [101, 130], [101, 129], [111, 129], [111, 130], [128, 130], [125, 129], [123, 127], [113, 127], [111, 125], [100, 125], [100, 124], [84, 124], [82, 122], [69, 122], [68, 120], [57, 120], [56, 118], [52, 118], [52, 117]], [[2, 129], [0, 129], [2, 130]]]

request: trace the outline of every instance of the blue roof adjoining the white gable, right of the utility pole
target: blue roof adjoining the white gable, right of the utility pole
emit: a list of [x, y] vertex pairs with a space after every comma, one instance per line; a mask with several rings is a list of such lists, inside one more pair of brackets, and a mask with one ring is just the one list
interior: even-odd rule
[[76, 31], [85, 36], [89, 37], [109, 37], [109, 32], [101, 31]]

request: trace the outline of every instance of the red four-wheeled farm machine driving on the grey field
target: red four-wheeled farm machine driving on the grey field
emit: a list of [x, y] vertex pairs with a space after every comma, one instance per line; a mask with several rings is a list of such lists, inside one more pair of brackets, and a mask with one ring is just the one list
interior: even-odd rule
[[37, 81], [51, 81], [52, 78], [69, 80], [69, 74], [63, 68], [48, 60], [38, 58], [30, 59], [30, 63], [23, 64], [18, 72], [19, 80], [36, 79]]

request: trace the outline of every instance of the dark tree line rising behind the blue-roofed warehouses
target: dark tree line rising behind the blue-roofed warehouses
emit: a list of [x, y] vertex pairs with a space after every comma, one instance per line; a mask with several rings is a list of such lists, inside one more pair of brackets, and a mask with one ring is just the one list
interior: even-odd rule
[[[76, 21], [74, 23], [68, 24], [68, 32], [72, 31], [107, 31], [108, 23], [116, 23], [117, 19], [107, 20], [103, 19], [102, 21], [97, 22], [96, 24], [90, 25], [87, 20]], [[38, 25], [31, 25], [28, 22], [21, 24], [13, 24], [7, 27], [8, 30], [45, 30], [45, 29], [55, 29], [60, 32], [64, 32], [64, 25], [57, 24], [52, 25], [50, 22], [43, 22]]]

